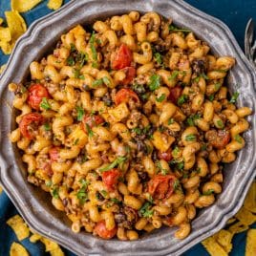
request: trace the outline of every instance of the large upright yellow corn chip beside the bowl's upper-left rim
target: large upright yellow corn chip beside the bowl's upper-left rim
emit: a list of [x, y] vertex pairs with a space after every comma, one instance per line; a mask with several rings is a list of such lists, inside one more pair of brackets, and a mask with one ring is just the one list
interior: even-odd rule
[[11, 31], [11, 40], [15, 42], [24, 32], [27, 25], [18, 11], [5, 11], [7, 24]]

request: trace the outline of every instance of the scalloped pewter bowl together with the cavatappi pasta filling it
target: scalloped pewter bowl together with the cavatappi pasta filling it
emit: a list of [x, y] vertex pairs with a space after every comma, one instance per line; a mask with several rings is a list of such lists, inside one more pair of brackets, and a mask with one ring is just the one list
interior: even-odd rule
[[255, 82], [224, 24], [181, 1], [72, 1], [1, 77], [1, 183], [79, 255], [179, 255], [255, 176]]

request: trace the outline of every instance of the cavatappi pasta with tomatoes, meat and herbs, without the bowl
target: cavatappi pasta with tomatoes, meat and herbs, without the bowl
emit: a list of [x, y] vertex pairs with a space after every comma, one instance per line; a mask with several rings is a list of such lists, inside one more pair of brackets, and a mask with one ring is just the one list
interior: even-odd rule
[[168, 225], [183, 239], [222, 193], [251, 110], [225, 85], [235, 59], [209, 51], [171, 19], [131, 11], [76, 26], [10, 84], [28, 181], [75, 233], [132, 241]]

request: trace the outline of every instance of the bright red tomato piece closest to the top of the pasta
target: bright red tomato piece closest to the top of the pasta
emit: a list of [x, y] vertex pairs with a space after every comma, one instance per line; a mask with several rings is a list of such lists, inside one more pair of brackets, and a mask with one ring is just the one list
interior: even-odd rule
[[133, 53], [127, 45], [121, 44], [111, 59], [111, 66], [114, 70], [121, 70], [131, 66]]

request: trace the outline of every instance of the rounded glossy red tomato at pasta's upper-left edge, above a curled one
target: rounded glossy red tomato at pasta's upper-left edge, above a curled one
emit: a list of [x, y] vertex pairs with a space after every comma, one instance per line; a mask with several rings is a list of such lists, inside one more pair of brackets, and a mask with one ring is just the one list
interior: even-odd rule
[[28, 102], [32, 109], [39, 110], [43, 97], [50, 98], [47, 89], [41, 84], [33, 84], [29, 88]]

